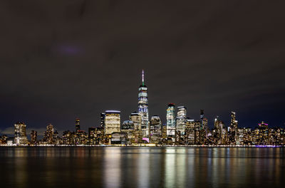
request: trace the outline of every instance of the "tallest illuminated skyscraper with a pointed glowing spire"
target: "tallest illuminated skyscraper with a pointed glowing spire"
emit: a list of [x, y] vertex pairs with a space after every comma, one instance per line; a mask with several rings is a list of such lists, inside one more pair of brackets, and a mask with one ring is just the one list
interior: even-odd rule
[[138, 89], [138, 114], [142, 117], [142, 135], [148, 137], [148, 98], [147, 98], [147, 85], [145, 85], [145, 75], [142, 70], [142, 85]]

